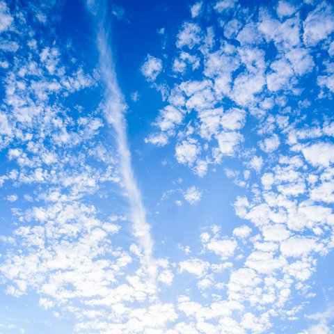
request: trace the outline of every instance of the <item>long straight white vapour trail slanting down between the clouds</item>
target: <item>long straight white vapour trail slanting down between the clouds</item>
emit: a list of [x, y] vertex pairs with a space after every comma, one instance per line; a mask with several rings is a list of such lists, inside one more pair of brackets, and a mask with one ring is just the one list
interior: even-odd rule
[[138, 245], [143, 254], [142, 264], [148, 274], [149, 288], [154, 291], [157, 280], [157, 266], [152, 257], [153, 241], [150, 234], [150, 225], [146, 221], [141, 191], [138, 189], [132, 169], [131, 152], [127, 141], [127, 121], [125, 119], [127, 104], [118, 86], [115, 65], [109, 47], [109, 34], [104, 28], [104, 19], [101, 19], [99, 26], [97, 47], [100, 53], [100, 72], [105, 84], [104, 115], [116, 132], [120, 173], [129, 198], [132, 230], [134, 236], [138, 239]]

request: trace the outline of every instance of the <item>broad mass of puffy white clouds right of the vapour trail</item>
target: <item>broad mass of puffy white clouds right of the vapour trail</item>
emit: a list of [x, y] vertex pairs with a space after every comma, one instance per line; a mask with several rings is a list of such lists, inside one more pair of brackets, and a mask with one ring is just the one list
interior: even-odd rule
[[[173, 61], [164, 63], [175, 78], [167, 105], [146, 140], [175, 142], [177, 163], [200, 177], [233, 161], [225, 173], [244, 189], [234, 203], [243, 225], [231, 237], [213, 226], [213, 235], [200, 235], [201, 256], [180, 262], [202, 296], [225, 303], [216, 321], [214, 298], [206, 306], [182, 296], [189, 333], [269, 333], [275, 321], [290, 328], [315, 297], [319, 257], [333, 248], [333, 118], [321, 104], [333, 99], [333, 6], [282, 0], [241, 8], [237, 1], [191, 7]], [[302, 333], [328, 328], [320, 321]]]

